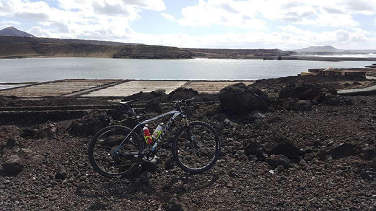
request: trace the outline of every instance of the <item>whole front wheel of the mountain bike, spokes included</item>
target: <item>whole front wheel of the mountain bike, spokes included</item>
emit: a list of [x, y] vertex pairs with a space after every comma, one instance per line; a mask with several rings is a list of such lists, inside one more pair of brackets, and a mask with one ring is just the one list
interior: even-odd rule
[[176, 133], [173, 155], [178, 166], [189, 173], [209, 170], [220, 154], [217, 132], [204, 122], [191, 122]]

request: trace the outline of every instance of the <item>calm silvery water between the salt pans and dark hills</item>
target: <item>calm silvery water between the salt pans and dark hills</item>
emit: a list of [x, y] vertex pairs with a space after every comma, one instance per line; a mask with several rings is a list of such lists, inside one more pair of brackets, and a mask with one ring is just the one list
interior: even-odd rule
[[370, 61], [233, 59], [0, 59], [0, 82], [51, 81], [65, 78], [147, 80], [255, 80], [299, 74], [309, 68], [361, 68]]

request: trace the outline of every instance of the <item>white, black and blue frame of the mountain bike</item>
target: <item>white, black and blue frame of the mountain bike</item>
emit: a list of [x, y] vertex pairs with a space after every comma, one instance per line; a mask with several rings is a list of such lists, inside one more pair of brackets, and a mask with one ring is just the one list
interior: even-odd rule
[[[182, 120], [183, 120], [184, 125], [189, 126], [188, 121], [185, 119], [186, 116], [183, 114], [183, 111], [182, 111], [182, 109], [180, 108], [180, 106], [177, 105], [177, 109], [175, 109], [175, 110], [172, 110], [172, 111], [170, 111], [170, 112], [167, 112], [167, 113], [161, 114], [161, 115], [156, 116], [156, 117], [153, 117], [153, 118], [151, 118], [151, 119], [147, 119], [147, 120], [145, 120], [145, 121], [140, 122], [139, 124], [137, 124], [137, 125], [132, 129], [132, 131], [130, 131], [130, 133], [124, 138], [124, 140], [120, 143], [120, 145], [118, 146], [118, 148], [115, 150], [115, 153], [116, 153], [116, 154], [119, 154], [119, 153], [118, 153], [118, 150], [121, 148], [121, 146], [123, 146], [124, 142], [129, 138], [130, 134], [132, 134], [132, 133], [136, 130], [136, 128], [138, 128], [138, 127], [141, 126], [141, 125], [147, 124], [147, 123], [149, 123], [149, 122], [151, 122], [151, 121], [154, 121], [154, 120], [156, 120], [156, 119], [160, 119], [160, 118], [162, 118], [162, 117], [168, 116], [168, 115], [172, 115], [172, 116], [171, 116], [171, 118], [168, 120], [168, 122], [167, 122], [167, 124], [165, 125], [165, 127], [163, 128], [161, 135], [159, 135], [158, 139], [154, 142], [154, 145], [153, 145], [152, 148], [151, 148], [151, 150], [152, 150], [153, 152], [154, 152], [154, 150], [156, 149], [156, 147], [158, 146], [159, 142], [161, 142], [161, 140], [162, 140], [164, 134], [168, 131], [168, 129], [170, 129], [171, 124], [174, 122], [174, 119], [175, 119], [176, 117], [178, 117], [178, 116], [182, 116]], [[140, 129], [141, 129], [141, 134], [143, 135], [143, 130], [142, 130], [141, 127], [140, 127]]]

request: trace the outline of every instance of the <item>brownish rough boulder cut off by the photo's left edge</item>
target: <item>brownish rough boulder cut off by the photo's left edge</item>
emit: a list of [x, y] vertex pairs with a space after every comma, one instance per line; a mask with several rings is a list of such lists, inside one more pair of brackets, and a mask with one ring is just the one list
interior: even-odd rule
[[22, 130], [15, 125], [2, 125], [0, 126], [0, 149], [4, 147], [13, 147], [21, 145], [23, 138]]

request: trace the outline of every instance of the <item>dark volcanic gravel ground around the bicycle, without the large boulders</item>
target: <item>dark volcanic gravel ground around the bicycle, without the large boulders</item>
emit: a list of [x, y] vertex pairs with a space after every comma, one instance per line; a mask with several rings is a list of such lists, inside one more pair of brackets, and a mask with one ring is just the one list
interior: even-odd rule
[[[376, 210], [376, 96], [349, 98], [352, 105], [269, 110], [254, 122], [210, 112], [217, 105], [196, 105], [190, 119], [218, 131], [220, 159], [208, 172], [191, 175], [168, 165], [172, 152], [165, 144], [158, 168], [143, 173], [147, 181], [139, 174], [108, 179], [94, 172], [87, 158], [91, 136], [68, 133], [74, 120], [58, 121], [56, 138], [25, 137], [22, 148], [2, 150], [2, 161], [17, 154], [24, 167], [16, 175], [0, 168], [0, 209]], [[287, 169], [244, 154], [249, 143], [267, 149], [276, 137], [299, 148]], [[56, 179], [62, 167], [67, 176]]]

